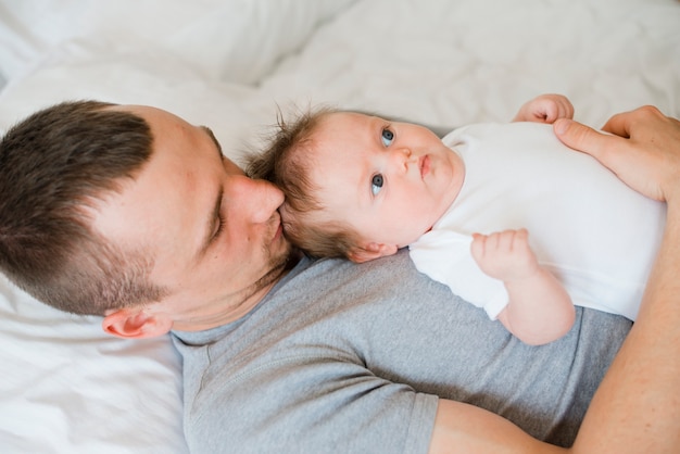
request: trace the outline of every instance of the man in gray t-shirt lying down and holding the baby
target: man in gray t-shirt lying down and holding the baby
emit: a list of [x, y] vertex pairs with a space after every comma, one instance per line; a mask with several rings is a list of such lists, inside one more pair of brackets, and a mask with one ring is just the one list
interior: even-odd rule
[[[640, 318], [575, 451], [680, 444], [680, 127], [641, 112], [640, 126], [613, 123], [631, 137], [624, 144], [579, 125], [561, 136], [669, 204]], [[662, 140], [650, 129], [665, 147], [650, 149]], [[299, 258], [281, 235], [280, 191], [243, 176], [209, 129], [151, 108], [39, 113], [8, 133], [0, 168], [3, 272], [52, 305], [104, 316], [112, 335], [173, 330], [196, 452], [558, 452], [526, 432], [569, 445], [630, 328], [582, 310], [565, 338], [532, 349], [404, 254], [366, 265]], [[16, 220], [20, 207], [33, 207], [28, 220]]]

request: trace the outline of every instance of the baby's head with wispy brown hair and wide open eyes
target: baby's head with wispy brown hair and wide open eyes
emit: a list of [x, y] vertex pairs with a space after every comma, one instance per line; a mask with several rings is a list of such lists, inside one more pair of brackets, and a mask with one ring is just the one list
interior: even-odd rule
[[285, 232], [314, 256], [391, 255], [426, 232], [463, 184], [457, 154], [421, 126], [330, 109], [278, 126], [248, 174], [281, 188]]

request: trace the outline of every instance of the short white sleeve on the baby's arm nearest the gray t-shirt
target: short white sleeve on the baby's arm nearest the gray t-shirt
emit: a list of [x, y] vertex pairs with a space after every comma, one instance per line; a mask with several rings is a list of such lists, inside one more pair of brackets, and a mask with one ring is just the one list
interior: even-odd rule
[[507, 305], [503, 281], [484, 274], [470, 252], [473, 238], [450, 230], [431, 230], [408, 247], [416, 268], [481, 307], [494, 320]]

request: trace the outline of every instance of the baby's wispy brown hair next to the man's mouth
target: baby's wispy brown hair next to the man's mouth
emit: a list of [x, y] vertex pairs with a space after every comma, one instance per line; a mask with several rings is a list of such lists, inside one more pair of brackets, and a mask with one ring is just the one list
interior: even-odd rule
[[263, 152], [249, 155], [245, 165], [250, 177], [269, 180], [284, 191], [286, 201], [280, 212], [286, 237], [317, 257], [348, 257], [358, 241], [358, 235], [348, 223], [311, 216], [324, 210], [314, 196], [318, 188], [310, 180], [314, 133], [325, 116], [337, 112], [343, 111], [319, 106], [287, 121], [279, 111], [269, 144]]

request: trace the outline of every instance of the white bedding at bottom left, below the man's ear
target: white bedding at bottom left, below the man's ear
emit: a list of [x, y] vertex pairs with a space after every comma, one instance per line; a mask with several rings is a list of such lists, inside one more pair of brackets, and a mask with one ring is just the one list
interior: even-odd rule
[[0, 275], [5, 453], [185, 453], [181, 361], [169, 337], [125, 341]]

